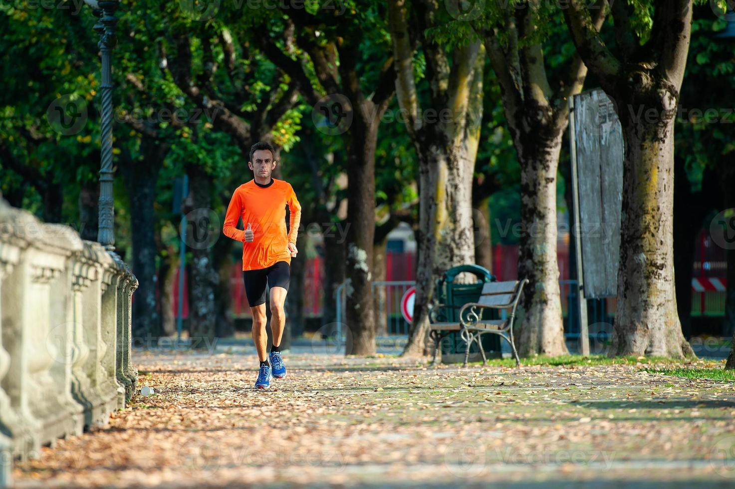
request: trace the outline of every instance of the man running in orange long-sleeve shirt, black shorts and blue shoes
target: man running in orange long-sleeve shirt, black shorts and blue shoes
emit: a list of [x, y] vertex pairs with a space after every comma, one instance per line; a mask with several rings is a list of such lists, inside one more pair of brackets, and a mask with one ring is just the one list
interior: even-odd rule
[[[284, 302], [288, 291], [291, 258], [296, 256], [296, 234], [301, 221], [301, 204], [293, 188], [283, 180], [270, 176], [276, 168], [273, 146], [265, 141], [250, 149], [248, 167], [254, 177], [240, 185], [232, 194], [223, 233], [243, 243], [243, 280], [253, 315], [253, 341], [258, 351], [260, 368], [255, 387], [266, 389], [271, 377], [283, 379], [286, 367], [281, 357], [281, 338], [286, 322]], [[291, 216], [286, 233], [286, 206]], [[243, 218], [245, 230], [237, 229], [237, 220]], [[270, 287], [270, 329], [273, 348], [265, 350], [265, 285]], [[270, 363], [268, 360], [270, 359]]]

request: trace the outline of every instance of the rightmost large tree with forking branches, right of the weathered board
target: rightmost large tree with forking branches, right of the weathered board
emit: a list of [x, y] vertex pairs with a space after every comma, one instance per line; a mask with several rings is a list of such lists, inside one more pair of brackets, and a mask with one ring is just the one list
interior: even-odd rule
[[[673, 270], [674, 121], [686, 68], [692, 0], [612, 4], [615, 52], [587, 6], [564, 10], [577, 51], [623, 126], [623, 218], [611, 356], [690, 357], [676, 311]], [[642, 18], [644, 19], [642, 21]]]

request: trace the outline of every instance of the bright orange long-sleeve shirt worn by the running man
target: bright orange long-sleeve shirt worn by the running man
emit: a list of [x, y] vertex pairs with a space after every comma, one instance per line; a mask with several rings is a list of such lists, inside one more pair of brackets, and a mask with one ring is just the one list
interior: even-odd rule
[[[291, 215], [286, 232], [286, 206]], [[253, 229], [253, 240], [245, 242], [245, 231], [237, 229], [237, 220], [243, 219], [247, 229]], [[296, 243], [301, 223], [301, 204], [291, 185], [271, 178], [263, 187], [255, 180], [243, 183], [232, 194], [222, 232], [243, 243], [243, 270], [268, 268], [276, 262], [291, 263], [288, 243]]]

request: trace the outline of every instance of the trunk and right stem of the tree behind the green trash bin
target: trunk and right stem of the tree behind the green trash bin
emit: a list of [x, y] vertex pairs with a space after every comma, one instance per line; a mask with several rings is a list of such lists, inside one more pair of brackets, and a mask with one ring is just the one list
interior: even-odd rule
[[[454, 56], [446, 100], [452, 124], [432, 124], [414, 137], [419, 165], [418, 260], [414, 317], [404, 356], [427, 355], [433, 347], [429, 304], [434, 301], [436, 279], [449, 268], [475, 262], [472, 178], [482, 120], [484, 48], [470, 43]], [[440, 60], [433, 63], [442, 65]], [[434, 109], [441, 112], [444, 106], [434, 102]]]

